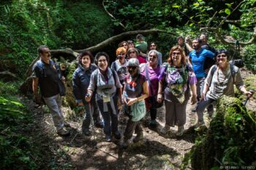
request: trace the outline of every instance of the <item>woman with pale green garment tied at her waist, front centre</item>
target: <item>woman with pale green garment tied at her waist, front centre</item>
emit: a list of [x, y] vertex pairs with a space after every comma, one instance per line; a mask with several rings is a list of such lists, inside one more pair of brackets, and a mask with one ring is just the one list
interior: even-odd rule
[[129, 59], [127, 63], [129, 74], [124, 82], [124, 104], [127, 106], [127, 115], [129, 120], [124, 131], [124, 142], [122, 146], [128, 147], [128, 140], [135, 131], [133, 142], [139, 142], [143, 139], [143, 130], [140, 120], [146, 115], [146, 105], [144, 99], [148, 97], [148, 83], [146, 77], [140, 74], [139, 61], [137, 58]]

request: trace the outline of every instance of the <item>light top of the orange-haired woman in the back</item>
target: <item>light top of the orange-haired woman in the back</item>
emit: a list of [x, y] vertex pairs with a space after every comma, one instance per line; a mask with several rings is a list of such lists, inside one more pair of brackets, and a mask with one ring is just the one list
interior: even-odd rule
[[111, 69], [116, 71], [116, 73], [118, 74], [118, 78], [119, 78], [120, 82], [124, 82], [124, 78], [128, 74], [127, 60], [125, 60], [124, 64], [121, 64], [118, 60], [114, 61], [111, 64]]

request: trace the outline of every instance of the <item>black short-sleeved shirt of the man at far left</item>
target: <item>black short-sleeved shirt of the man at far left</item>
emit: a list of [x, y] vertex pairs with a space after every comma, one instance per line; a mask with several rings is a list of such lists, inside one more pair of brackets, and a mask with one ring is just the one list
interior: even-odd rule
[[58, 72], [53, 64], [48, 64], [43, 61], [42, 68], [39, 67], [38, 62], [35, 63], [32, 77], [39, 79], [39, 88], [43, 97], [48, 98], [55, 96], [59, 93]]

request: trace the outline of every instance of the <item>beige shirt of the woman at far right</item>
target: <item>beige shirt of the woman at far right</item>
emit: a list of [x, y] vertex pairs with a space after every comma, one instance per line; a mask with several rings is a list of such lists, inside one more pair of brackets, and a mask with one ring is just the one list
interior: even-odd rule
[[233, 66], [234, 70], [231, 71], [229, 64], [225, 72], [222, 72], [220, 69], [216, 69], [212, 74], [213, 68], [214, 66], [211, 66], [205, 80], [206, 84], [209, 86], [209, 90], [206, 94], [208, 98], [217, 100], [222, 95], [235, 96], [233, 85], [235, 84], [238, 89], [244, 87], [244, 82], [238, 67]]

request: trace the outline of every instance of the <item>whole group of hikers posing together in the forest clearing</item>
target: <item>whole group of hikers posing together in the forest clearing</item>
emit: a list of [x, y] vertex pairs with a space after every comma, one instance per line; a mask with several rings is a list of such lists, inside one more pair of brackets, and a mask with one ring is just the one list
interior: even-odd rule
[[[148, 46], [140, 34], [137, 39], [137, 45], [132, 40], [121, 42], [116, 50], [116, 61], [111, 65], [107, 53], [99, 52], [95, 58], [89, 51], [80, 53], [72, 83], [75, 101], [85, 109], [82, 131], [86, 136], [91, 135], [90, 124], [95, 123], [104, 128], [107, 142], [113, 137], [121, 139], [118, 114], [123, 109], [129, 117], [122, 143], [127, 148], [134, 132], [136, 136], [133, 142], [143, 139], [140, 122], [146, 112], [150, 113], [151, 128], [157, 126], [157, 108], [162, 107], [163, 103], [165, 127], [162, 133], [167, 133], [171, 126], [177, 125], [176, 135], [182, 136], [189, 98], [192, 104], [197, 104], [197, 128], [205, 124], [203, 112], [206, 108], [209, 116], [212, 116], [211, 104], [214, 101], [222, 95], [234, 96], [233, 85], [246, 96], [252, 96], [244, 86], [239, 69], [229, 63], [227, 50], [214, 50], [210, 47], [206, 34], [192, 42], [178, 36], [178, 44], [170, 49], [165, 63], [162, 63], [162, 53], [157, 51], [155, 42]], [[40, 46], [38, 54], [42, 64], [37, 62], [33, 69], [35, 100], [40, 100], [37, 90], [39, 85], [57, 133], [67, 136], [69, 131], [64, 126], [69, 124], [64, 121], [61, 112], [58, 88], [58, 82], [64, 80], [64, 77], [58, 76], [58, 69], [50, 60], [48, 47]], [[210, 69], [204, 68], [206, 58], [216, 58], [217, 64]]]

